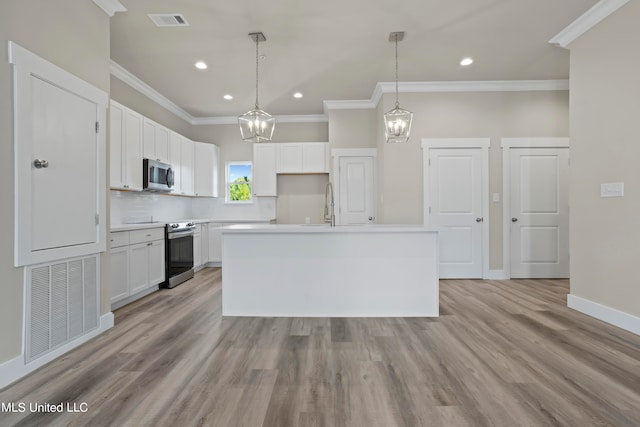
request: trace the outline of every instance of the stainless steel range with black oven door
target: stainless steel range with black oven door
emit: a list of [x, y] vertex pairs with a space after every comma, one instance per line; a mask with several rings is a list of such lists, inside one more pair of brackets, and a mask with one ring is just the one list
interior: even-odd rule
[[193, 222], [175, 222], [166, 226], [165, 288], [173, 288], [193, 277]]

